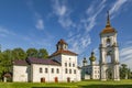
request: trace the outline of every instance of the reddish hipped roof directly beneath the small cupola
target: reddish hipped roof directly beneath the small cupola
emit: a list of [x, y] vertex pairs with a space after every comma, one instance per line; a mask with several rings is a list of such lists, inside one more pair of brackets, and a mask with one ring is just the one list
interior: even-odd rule
[[78, 55], [78, 54], [73, 53], [73, 52], [70, 52], [70, 51], [59, 50], [59, 51], [56, 51], [55, 53], [53, 53], [50, 57], [53, 57], [53, 56], [56, 56], [56, 55], [59, 55], [59, 54], [74, 55], [74, 56], [77, 56], [77, 55]]

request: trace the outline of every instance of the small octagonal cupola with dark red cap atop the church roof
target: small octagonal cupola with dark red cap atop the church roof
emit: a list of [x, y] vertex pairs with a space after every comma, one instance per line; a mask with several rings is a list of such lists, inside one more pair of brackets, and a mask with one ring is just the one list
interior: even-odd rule
[[56, 48], [57, 51], [67, 51], [68, 44], [63, 38], [61, 38], [56, 44]]

